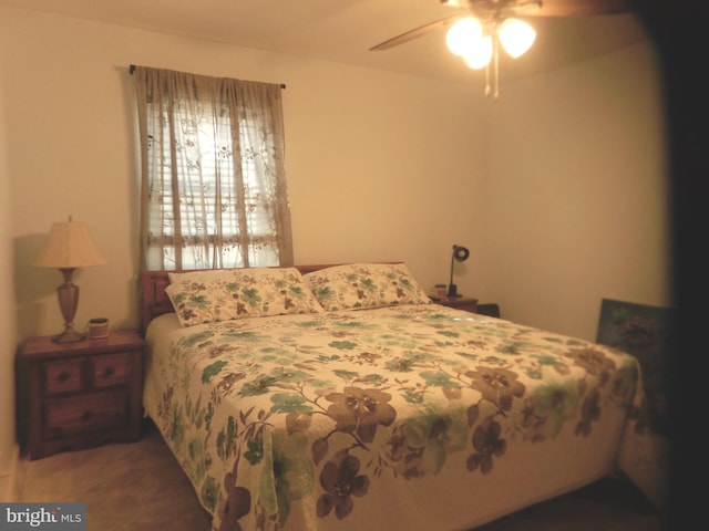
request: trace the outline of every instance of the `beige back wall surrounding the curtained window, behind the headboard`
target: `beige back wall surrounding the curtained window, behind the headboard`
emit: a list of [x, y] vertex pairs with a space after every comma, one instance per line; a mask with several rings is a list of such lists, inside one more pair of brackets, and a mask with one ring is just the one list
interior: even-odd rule
[[287, 85], [297, 262], [404, 260], [432, 285], [445, 281], [452, 243], [476, 251], [486, 106], [467, 87], [30, 11], [2, 14], [1, 39], [13, 48], [3, 67], [21, 337], [61, 329], [60, 273], [31, 262], [51, 223], [69, 215], [90, 225], [107, 260], [76, 274], [76, 322], [105, 315], [116, 326], [136, 324], [131, 63]]

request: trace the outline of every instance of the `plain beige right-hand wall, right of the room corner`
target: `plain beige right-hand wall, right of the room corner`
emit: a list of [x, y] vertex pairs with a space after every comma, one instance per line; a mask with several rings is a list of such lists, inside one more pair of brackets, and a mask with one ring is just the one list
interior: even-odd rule
[[648, 43], [505, 90], [490, 116], [485, 295], [595, 339], [603, 298], [670, 303], [660, 86]]

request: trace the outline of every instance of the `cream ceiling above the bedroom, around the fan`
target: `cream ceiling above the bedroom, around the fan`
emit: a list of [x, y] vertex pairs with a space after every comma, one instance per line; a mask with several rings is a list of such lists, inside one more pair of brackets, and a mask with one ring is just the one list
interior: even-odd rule
[[[482, 83], [484, 76], [448, 51], [445, 30], [389, 50], [369, 51], [392, 37], [452, 14], [451, 8], [439, 0], [0, 0], [0, 6], [449, 82]], [[645, 39], [633, 13], [527, 20], [537, 30], [536, 42], [520, 59], [501, 55], [503, 83], [565, 67]]]

